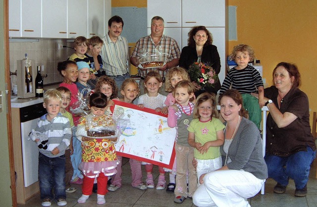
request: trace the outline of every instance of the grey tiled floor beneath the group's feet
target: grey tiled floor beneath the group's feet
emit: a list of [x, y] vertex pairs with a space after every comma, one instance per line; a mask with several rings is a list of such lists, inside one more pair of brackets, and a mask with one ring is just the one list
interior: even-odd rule
[[[317, 207], [317, 179], [315, 179], [317, 167], [317, 159], [315, 160], [308, 182], [308, 195], [298, 198], [294, 196], [295, 186], [293, 180], [287, 186], [285, 194], [273, 193], [273, 187], [276, 184], [272, 179], [265, 182], [265, 195], [260, 193], [249, 199], [252, 207]], [[144, 169], [144, 166], [143, 166]], [[128, 159], [123, 159], [122, 165], [122, 187], [115, 192], [106, 194], [106, 204], [97, 205], [97, 194], [92, 194], [85, 204], [78, 204], [77, 199], [81, 196], [81, 185], [73, 185], [77, 188], [75, 193], [67, 194], [67, 207], [195, 207], [191, 199], [186, 199], [183, 204], [175, 204], [173, 202], [174, 194], [166, 193], [165, 190], [148, 189], [142, 191], [131, 186], [131, 172]], [[157, 184], [159, 173], [158, 168], [154, 167]], [[146, 179], [145, 172], [144, 181]], [[166, 181], [168, 175], [166, 173]], [[26, 205], [18, 205], [18, 207], [41, 207], [40, 195], [37, 194], [31, 198]], [[57, 207], [53, 201], [52, 207]]]

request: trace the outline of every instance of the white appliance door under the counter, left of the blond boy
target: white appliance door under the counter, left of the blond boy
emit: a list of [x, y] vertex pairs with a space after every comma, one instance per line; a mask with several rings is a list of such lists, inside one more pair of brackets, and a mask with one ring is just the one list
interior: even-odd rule
[[38, 181], [39, 150], [36, 142], [28, 140], [29, 133], [35, 129], [38, 119], [21, 123], [22, 160], [24, 187], [28, 187]]

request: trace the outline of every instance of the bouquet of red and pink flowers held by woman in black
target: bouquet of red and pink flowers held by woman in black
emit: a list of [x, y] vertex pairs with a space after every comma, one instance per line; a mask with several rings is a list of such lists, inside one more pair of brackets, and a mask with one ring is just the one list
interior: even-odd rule
[[189, 66], [188, 75], [190, 80], [196, 82], [202, 87], [214, 87], [219, 81], [218, 75], [212, 67], [205, 63], [194, 62]]

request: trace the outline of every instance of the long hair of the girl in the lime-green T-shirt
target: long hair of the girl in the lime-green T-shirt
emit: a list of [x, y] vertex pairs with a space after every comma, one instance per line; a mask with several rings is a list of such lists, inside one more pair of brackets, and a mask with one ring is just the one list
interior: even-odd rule
[[194, 112], [193, 112], [194, 119], [200, 118], [198, 108], [199, 108], [199, 105], [204, 103], [205, 101], [211, 101], [211, 106], [212, 106], [211, 117], [219, 118], [219, 113], [218, 113], [217, 106], [216, 106], [216, 96], [214, 95], [214, 93], [205, 92], [205, 93], [200, 94], [196, 99], [196, 105], [195, 105]]

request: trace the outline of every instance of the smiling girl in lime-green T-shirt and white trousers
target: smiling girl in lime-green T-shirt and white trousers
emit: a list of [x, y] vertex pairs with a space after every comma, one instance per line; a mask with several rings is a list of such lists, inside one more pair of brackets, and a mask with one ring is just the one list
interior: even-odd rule
[[224, 142], [224, 125], [219, 114], [213, 93], [202, 93], [197, 97], [193, 114], [194, 120], [187, 128], [188, 144], [194, 147], [197, 160], [197, 183], [202, 174], [222, 167], [220, 148]]

